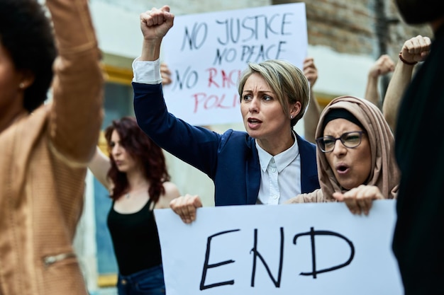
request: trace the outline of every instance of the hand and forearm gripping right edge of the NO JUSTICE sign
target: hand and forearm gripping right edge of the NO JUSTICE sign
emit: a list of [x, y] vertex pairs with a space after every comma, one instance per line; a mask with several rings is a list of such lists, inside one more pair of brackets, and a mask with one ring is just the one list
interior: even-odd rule
[[304, 59], [304, 75], [310, 83], [310, 103], [304, 114], [304, 137], [307, 141], [315, 143], [316, 127], [318, 126], [319, 117], [321, 115], [321, 107], [313, 92], [314, 83], [318, 79], [318, 69], [314, 64], [312, 57]]

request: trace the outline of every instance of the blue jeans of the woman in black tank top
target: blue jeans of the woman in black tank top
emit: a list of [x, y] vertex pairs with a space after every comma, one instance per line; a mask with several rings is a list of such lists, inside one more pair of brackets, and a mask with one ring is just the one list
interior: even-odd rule
[[123, 276], [118, 274], [118, 295], [164, 295], [162, 265]]

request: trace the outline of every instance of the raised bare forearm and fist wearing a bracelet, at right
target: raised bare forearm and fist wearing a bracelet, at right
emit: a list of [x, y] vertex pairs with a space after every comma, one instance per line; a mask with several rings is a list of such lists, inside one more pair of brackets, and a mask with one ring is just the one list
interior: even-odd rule
[[396, 64], [392, 79], [385, 93], [382, 112], [392, 131], [396, 128], [399, 103], [411, 81], [414, 66], [428, 56], [431, 47], [429, 37], [418, 35], [404, 42], [399, 52], [399, 61]]

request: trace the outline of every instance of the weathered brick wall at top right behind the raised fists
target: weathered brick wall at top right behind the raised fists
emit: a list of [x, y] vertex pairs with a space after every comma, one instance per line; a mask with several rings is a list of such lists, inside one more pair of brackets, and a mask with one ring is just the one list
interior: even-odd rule
[[[405, 40], [418, 34], [431, 36], [426, 25], [406, 25], [391, 0], [274, 0], [272, 4], [294, 2], [306, 4], [309, 44], [331, 47], [340, 53], [375, 59], [387, 53], [396, 60]], [[384, 23], [382, 18], [394, 22]], [[386, 47], [384, 52], [382, 47]]]

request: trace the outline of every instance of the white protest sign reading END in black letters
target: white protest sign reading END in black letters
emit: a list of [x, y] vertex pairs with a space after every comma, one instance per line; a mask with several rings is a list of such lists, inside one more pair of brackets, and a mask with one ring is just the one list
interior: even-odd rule
[[156, 209], [167, 294], [401, 295], [394, 200]]

